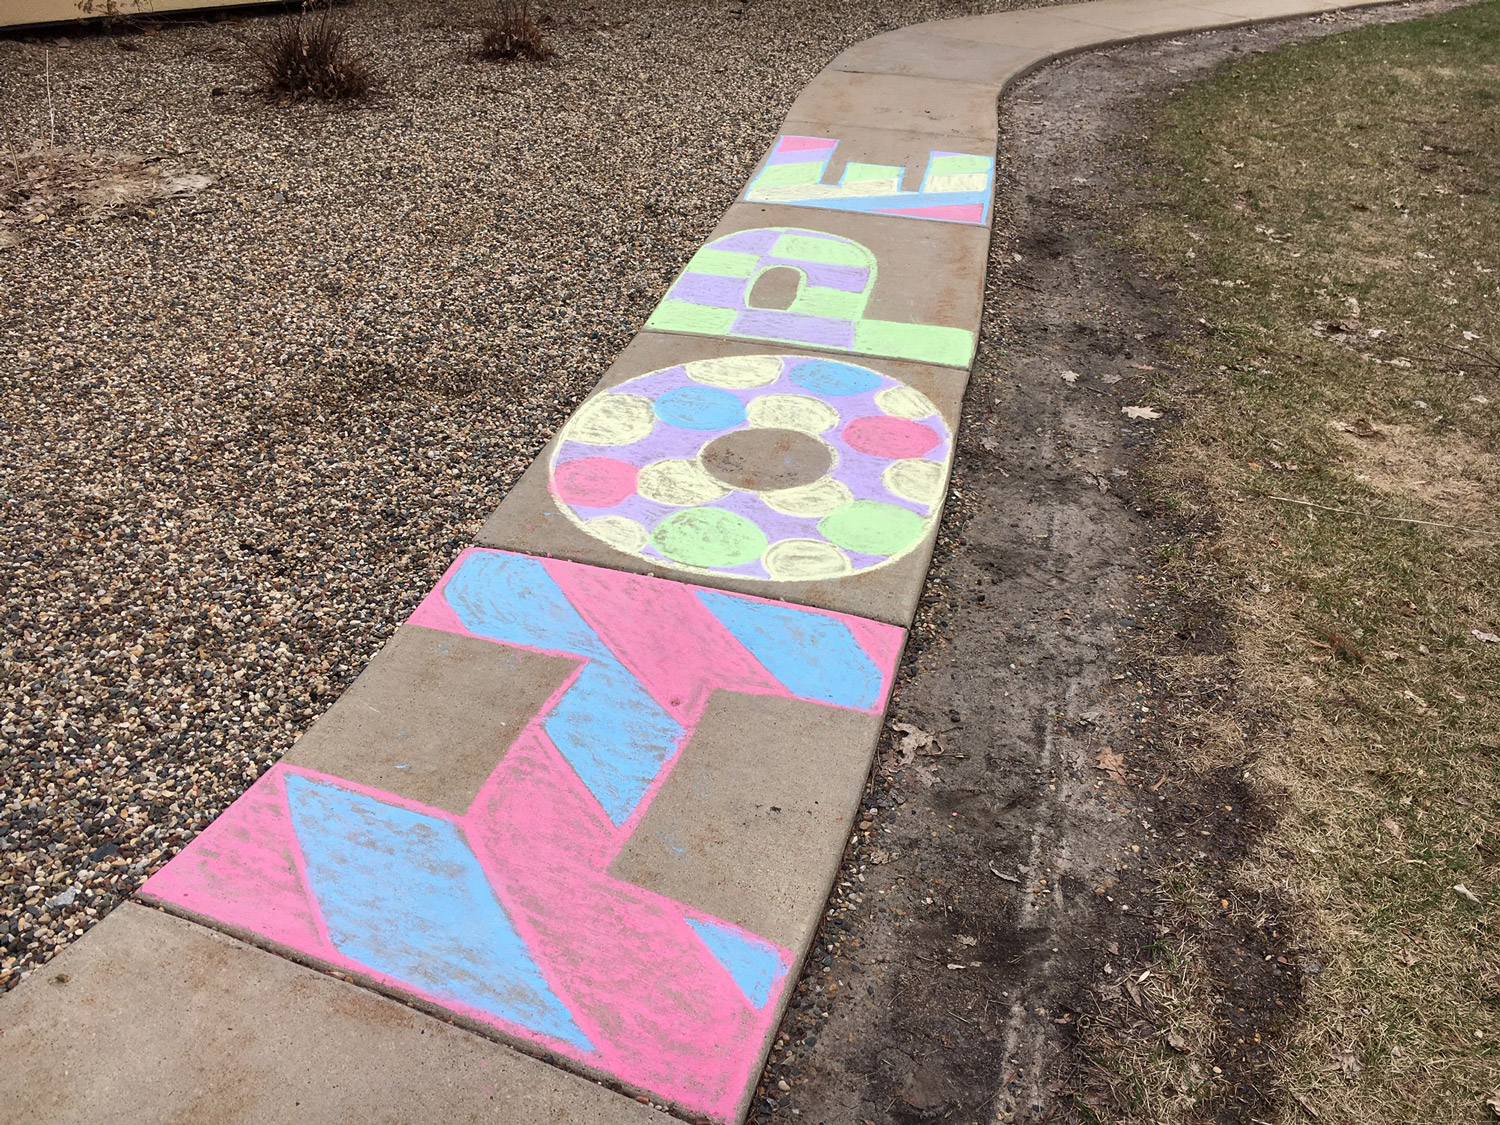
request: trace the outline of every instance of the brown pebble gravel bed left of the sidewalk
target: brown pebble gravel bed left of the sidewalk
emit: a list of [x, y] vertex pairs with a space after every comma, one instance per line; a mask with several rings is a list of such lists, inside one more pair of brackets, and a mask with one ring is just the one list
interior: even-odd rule
[[[366, 105], [270, 104], [279, 16], [0, 39], [0, 147], [213, 177], [0, 250], [0, 988], [342, 692], [634, 333], [798, 88], [981, 0], [360, 0]], [[33, 208], [36, 210], [36, 208]], [[0, 243], [3, 244], [3, 243]]]

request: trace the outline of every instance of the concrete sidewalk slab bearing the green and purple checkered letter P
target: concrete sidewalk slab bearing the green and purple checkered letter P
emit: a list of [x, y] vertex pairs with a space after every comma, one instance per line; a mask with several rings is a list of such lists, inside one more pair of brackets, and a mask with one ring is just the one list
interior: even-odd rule
[[966, 369], [988, 246], [984, 226], [738, 202], [646, 328]]

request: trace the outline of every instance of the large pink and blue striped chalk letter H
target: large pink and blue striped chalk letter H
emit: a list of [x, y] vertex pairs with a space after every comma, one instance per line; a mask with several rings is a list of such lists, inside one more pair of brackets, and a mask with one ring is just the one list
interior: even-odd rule
[[408, 624], [576, 669], [462, 814], [278, 764], [142, 896], [728, 1120], [794, 954], [610, 864], [712, 693], [876, 716], [902, 630], [477, 549]]

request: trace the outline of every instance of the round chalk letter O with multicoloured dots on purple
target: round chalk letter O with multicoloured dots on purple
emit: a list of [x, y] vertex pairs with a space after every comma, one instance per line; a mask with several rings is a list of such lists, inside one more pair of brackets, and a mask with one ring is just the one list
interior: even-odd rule
[[738, 356], [588, 399], [562, 428], [550, 486], [585, 532], [657, 566], [816, 582], [926, 540], [951, 456], [915, 387], [842, 360]]

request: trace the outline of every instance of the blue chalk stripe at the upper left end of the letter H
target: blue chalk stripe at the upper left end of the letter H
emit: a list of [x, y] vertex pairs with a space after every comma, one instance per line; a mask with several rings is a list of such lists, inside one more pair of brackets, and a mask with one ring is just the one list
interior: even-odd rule
[[459, 621], [478, 636], [614, 662], [540, 560], [476, 550], [442, 590]]

